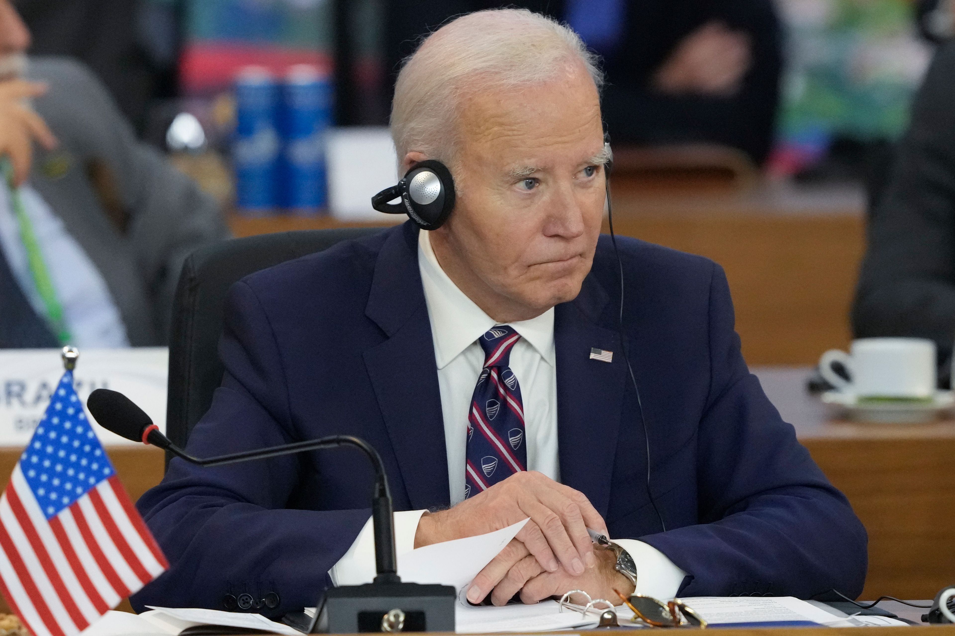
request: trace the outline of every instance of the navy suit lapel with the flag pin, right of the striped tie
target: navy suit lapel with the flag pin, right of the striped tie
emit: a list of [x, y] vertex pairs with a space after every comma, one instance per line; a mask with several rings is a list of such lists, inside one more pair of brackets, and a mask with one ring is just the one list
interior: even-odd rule
[[[583, 492], [603, 516], [626, 389], [620, 335], [599, 323], [606, 303], [590, 275], [580, 295], [558, 305], [554, 316], [561, 482]], [[612, 361], [590, 359], [593, 347], [612, 351]]]

